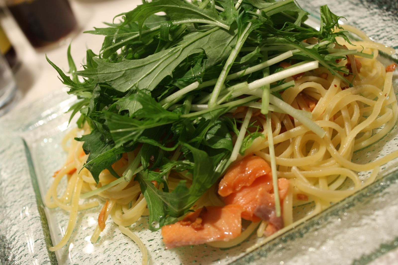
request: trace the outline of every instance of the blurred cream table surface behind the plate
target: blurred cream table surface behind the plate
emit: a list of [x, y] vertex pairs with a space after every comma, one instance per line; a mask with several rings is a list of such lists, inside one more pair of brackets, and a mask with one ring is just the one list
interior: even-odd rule
[[[57, 72], [47, 62], [45, 55], [62, 70], [67, 71], [66, 51], [69, 43], [72, 43], [72, 57], [79, 68], [80, 63], [84, 62], [86, 49], [90, 48], [98, 53], [103, 40], [103, 36], [82, 32], [92, 27], [102, 27], [102, 22], [110, 22], [115, 14], [131, 10], [141, 3], [140, 0], [70, 0], [70, 2], [79, 27], [53, 47], [36, 50], [31, 47], [11, 16], [8, 15], [0, 21], [20, 60], [20, 67], [15, 74], [18, 93], [14, 100], [14, 110], [64, 88], [57, 77]], [[398, 249], [395, 249], [371, 264], [396, 264], [397, 257]]]

